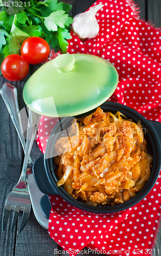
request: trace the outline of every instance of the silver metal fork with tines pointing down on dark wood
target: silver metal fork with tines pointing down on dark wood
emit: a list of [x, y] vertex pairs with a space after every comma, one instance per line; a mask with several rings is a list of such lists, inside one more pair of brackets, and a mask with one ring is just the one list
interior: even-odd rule
[[[5, 97], [3, 95], [3, 90], [1, 90], [1, 95], [6, 103]], [[14, 96], [15, 97], [17, 96], [16, 92]], [[6, 105], [8, 107], [7, 103]], [[14, 106], [14, 107], [18, 108], [18, 106]], [[8, 110], [9, 110], [9, 107], [8, 107]], [[12, 120], [15, 122], [15, 119], [17, 120], [17, 118], [14, 118], [12, 116], [12, 113], [10, 113], [10, 115]], [[31, 200], [30, 200], [28, 186], [26, 184], [26, 169], [27, 169], [27, 165], [30, 157], [31, 148], [35, 139], [39, 119], [40, 119], [40, 115], [32, 112], [32, 110], [29, 109], [29, 120], [28, 120], [27, 138], [26, 138], [25, 155], [24, 155], [22, 172], [21, 172], [21, 176], [19, 178], [18, 183], [13, 188], [13, 190], [9, 193], [5, 202], [5, 207], [3, 212], [3, 231], [7, 226], [7, 222], [8, 222], [8, 218], [11, 210], [14, 210], [11, 232], [13, 232], [14, 226], [18, 218], [19, 211], [23, 211], [19, 233], [23, 230], [25, 223], [28, 220], [30, 215]], [[25, 145], [25, 143], [22, 143], [22, 144]]]

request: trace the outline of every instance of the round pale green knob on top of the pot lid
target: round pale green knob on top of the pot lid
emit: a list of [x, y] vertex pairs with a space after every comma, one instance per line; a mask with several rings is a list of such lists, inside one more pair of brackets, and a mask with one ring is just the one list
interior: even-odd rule
[[58, 72], [68, 72], [74, 68], [75, 58], [72, 54], [61, 54], [53, 60], [53, 66]]

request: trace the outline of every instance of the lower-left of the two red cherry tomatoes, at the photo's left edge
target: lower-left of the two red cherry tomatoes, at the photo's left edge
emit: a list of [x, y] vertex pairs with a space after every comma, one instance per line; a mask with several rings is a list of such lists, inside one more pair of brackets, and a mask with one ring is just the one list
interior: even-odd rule
[[1, 72], [9, 81], [22, 80], [29, 72], [29, 63], [18, 54], [8, 55], [2, 62]]

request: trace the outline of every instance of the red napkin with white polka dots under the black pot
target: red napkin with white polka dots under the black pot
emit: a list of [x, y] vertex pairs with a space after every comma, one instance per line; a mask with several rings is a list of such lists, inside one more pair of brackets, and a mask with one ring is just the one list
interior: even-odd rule
[[[161, 32], [139, 19], [138, 9], [131, 1], [102, 0], [93, 5], [97, 4], [104, 5], [96, 14], [99, 34], [81, 41], [71, 31], [68, 53], [93, 54], [112, 62], [119, 82], [109, 101], [128, 105], [146, 119], [161, 122]], [[49, 59], [54, 57], [52, 51]], [[43, 153], [58, 121], [41, 117], [37, 143]], [[154, 254], [160, 219], [160, 184], [159, 175], [146, 198], [114, 215], [87, 214], [59, 196], [50, 196], [50, 237], [70, 255], [81, 250], [110, 255]]]

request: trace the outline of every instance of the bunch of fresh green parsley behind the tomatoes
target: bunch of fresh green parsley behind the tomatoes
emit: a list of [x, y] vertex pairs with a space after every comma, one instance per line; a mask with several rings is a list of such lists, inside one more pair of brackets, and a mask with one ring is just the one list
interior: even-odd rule
[[24, 7], [23, 12], [7, 16], [0, 0], [0, 65], [9, 54], [20, 54], [22, 42], [30, 36], [42, 37], [52, 48], [67, 51], [72, 6], [59, 0], [33, 3], [32, 8]]

